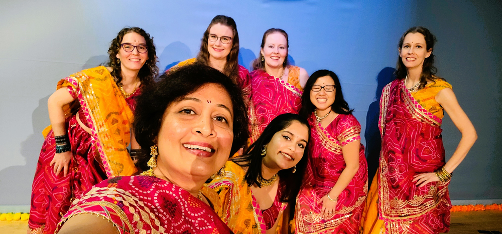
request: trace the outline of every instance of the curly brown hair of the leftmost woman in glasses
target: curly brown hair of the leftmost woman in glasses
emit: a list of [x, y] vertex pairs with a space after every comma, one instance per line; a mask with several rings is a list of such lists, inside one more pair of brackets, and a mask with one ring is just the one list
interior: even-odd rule
[[106, 66], [113, 69], [111, 75], [115, 78], [115, 82], [117, 84], [120, 83], [122, 81], [122, 76], [120, 75], [121, 69], [120, 64], [117, 63], [116, 55], [121, 48], [120, 43], [122, 43], [124, 35], [133, 32], [141, 35], [147, 42], [148, 60], [138, 73], [138, 78], [140, 79], [142, 86], [146, 87], [154, 82], [154, 78], [159, 73], [159, 68], [157, 67], [158, 59], [155, 52], [154, 38], [150, 37], [150, 34], [145, 32], [145, 30], [138, 27], [126, 27], [120, 30], [117, 37], [111, 41], [110, 48], [108, 49], [109, 61]]

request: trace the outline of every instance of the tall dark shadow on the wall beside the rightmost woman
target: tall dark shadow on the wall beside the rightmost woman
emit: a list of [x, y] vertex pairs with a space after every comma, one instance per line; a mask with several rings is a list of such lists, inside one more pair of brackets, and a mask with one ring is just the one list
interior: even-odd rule
[[371, 185], [373, 176], [376, 173], [380, 159], [380, 149], [382, 147], [382, 138], [378, 128], [378, 120], [380, 116], [380, 97], [384, 86], [391, 83], [396, 76], [396, 69], [386, 67], [376, 76], [376, 90], [374, 102], [369, 104], [366, 115], [366, 129], [364, 130], [364, 139], [366, 140], [366, 160], [368, 162], [368, 185]]

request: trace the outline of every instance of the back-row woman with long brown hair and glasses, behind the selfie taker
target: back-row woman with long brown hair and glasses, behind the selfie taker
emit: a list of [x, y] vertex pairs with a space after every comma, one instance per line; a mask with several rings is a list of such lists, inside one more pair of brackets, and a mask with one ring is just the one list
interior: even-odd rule
[[242, 88], [244, 95], [248, 95], [249, 72], [238, 64], [239, 33], [235, 21], [228, 16], [215, 16], [207, 26], [201, 41], [196, 58], [180, 62], [170, 70], [195, 62], [202, 63], [230, 77]]

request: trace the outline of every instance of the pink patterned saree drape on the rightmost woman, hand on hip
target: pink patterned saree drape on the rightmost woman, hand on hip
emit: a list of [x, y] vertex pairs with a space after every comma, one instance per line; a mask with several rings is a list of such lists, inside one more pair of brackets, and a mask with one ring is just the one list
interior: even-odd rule
[[395, 80], [384, 88], [380, 111], [378, 210], [386, 231], [447, 232], [449, 181], [431, 182], [421, 188], [412, 182], [417, 173], [434, 172], [445, 164], [441, 119], [413, 98], [403, 80]]

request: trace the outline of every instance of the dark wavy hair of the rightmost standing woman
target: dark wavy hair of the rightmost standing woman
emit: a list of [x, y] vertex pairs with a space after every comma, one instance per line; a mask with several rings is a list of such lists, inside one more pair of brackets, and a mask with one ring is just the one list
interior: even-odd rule
[[[399, 40], [399, 45], [398, 48], [402, 50], [403, 47], [403, 42], [405, 40], [406, 35], [410, 33], [420, 33], [424, 35], [425, 38], [425, 44], [426, 44], [426, 49], [427, 51], [431, 51], [431, 55], [428, 58], [425, 58], [424, 60], [424, 65], [422, 67], [422, 74], [420, 75], [420, 85], [418, 89], [423, 89], [428, 81], [435, 82], [435, 79], [441, 79], [444, 80], [441, 77], [435, 76], [437, 73], [437, 68], [434, 66], [434, 44], [437, 42], [436, 36], [432, 34], [428, 29], [424, 27], [413, 27], [408, 29], [403, 36], [401, 36], [401, 39]], [[403, 64], [403, 60], [401, 57], [398, 56], [398, 63], [396, 65], [396, 79], [405, 79], [406, 76], [408, 75], [408, 72], [406, 70], [405, 65]]]

